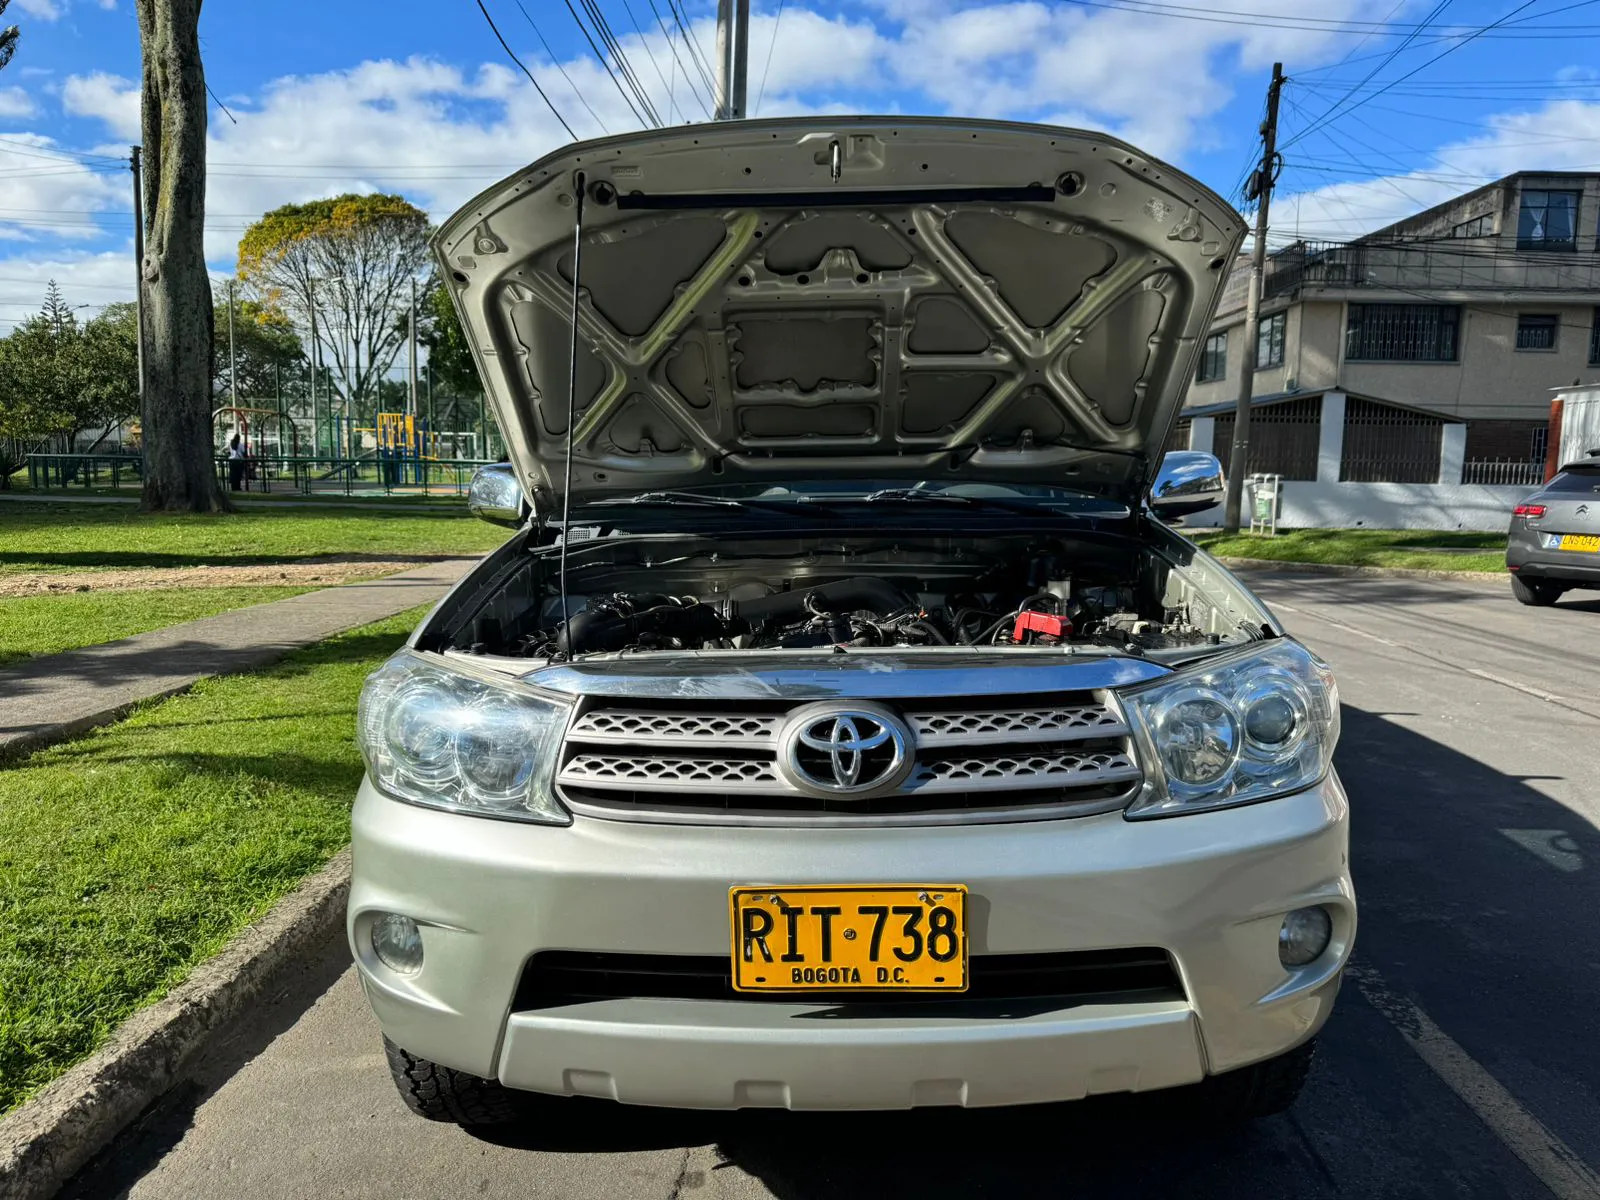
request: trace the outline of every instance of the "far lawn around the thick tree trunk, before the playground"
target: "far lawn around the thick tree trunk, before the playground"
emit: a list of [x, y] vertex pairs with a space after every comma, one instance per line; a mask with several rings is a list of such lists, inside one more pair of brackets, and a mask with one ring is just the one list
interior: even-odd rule
[[282, 563], [334, 554], [483, 554], [506, 530], [462, 512], [336, 509], [149, 515], [126, 504], [0, 502], [0, 571]]

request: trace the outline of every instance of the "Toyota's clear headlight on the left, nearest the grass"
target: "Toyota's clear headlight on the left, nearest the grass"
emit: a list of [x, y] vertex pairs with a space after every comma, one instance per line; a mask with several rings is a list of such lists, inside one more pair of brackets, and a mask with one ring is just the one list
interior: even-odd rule
[[571, 706], [400, 653], [362, 688], [357, 739], [397, 800], [512, 821], [566, 824], [550, 787]]

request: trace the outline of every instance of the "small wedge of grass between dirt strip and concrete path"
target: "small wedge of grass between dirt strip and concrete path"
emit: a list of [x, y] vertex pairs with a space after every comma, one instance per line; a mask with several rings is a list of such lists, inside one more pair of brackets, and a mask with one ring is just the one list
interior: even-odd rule
[[309, 592], [309, 587], [160, 587], [0, 597], [0, 667], [34, 654], [98, 646], [179, 621]]

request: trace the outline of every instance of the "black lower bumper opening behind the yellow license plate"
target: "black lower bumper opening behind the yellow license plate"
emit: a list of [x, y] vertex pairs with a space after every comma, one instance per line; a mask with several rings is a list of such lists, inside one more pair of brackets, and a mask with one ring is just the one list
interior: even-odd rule
[[741, 1000], [851, 1006], [971, 1006], [1016, 1000], [1182, 1000], [1171, 955], [1150, 947], [1058, 954], [981, 954], [965, 992], [734, 992], [726, 955], [544, 950], [523, 968], [518, 1011], [595, 1000]]

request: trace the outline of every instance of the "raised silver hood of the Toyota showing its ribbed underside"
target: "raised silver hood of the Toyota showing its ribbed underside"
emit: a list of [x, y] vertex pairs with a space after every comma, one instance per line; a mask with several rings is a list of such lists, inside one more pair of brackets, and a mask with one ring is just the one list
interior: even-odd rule
[[434, 238], [541, 512], [566, 478], [574, 234], [574, 504], [840, 477], [1134, 504], [1245, 227], [1075, 130], [830, 117], [568, 146]]

